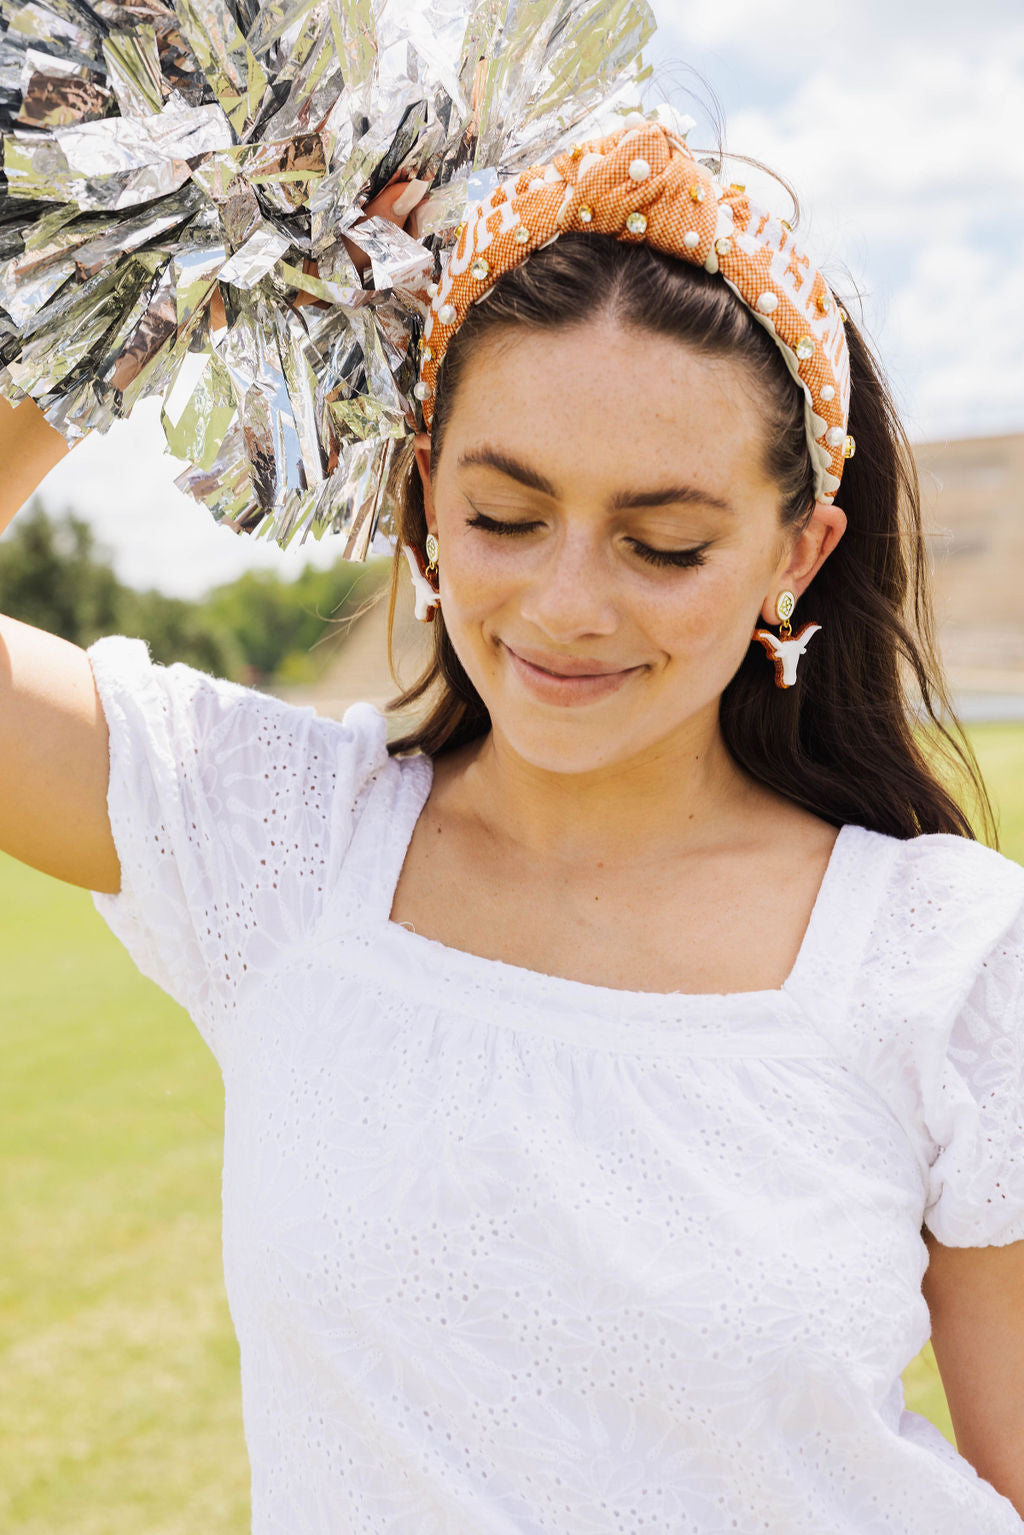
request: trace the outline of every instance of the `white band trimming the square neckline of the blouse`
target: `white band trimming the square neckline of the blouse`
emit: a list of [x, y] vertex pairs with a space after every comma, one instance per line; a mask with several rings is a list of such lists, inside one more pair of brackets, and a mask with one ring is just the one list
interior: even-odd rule
[[[484, 990], [500, 992], [516, 990], [522, 999], [533, 999], [547, 1004], [562, 1004], [570, 1010], [588, 1013], [616, 1013], [637, 1010], [651, 1018], [679, 1018], [680, 1012], [699, 1012], [706, 1015], [720, 1010], [742, 1010], [749, 1007], [755, 1012], [777, 1015], [780, 1007], [788, 1007], [801, 989], [804, 973], [808, 978], [814, 972], [815, 958], [820, 953], [831, 918], [838, 915], [840, 895], [843, 886], [843, 867], [847, 855], [854, 852], [857, 834], [872, 835], [866, 827], [847, 821], [840, 826], [837, 838], [829, 852], [829, 861], [815, 893], [811, 916], [803, 932], [800, 947], [789, 973], [778, 987], [758, 987], [746, 992], [648, 992], [628, 990], [625, 987], [599, 985], [594, 981], [579, 981], [571, 976], [553, 975], [547, 970], [531, 970], [527, 966], [510, 964], [505, 959], [494, 959], [474, 953], [470, 949], [456, 949], [441, 942], [438, 938], [427, 938], [404, 923], [391, 919], [395, 892], [405, 864], [405, 857], [411, 844], [413, 830], [430, 797], [433, 784], [433, 763], [430, 757], [419, 755], [404, 760], [393, 760], [402, 772], [402, 794], [399, 803], [390, 806], [388, 827], [379, 840], [379, 900], [375, 903], [378, 913], [382, 909], [381, 938], [391, 958], [402, 964], [418, 961], [431, 976], [431, 982], [444, 990], [450, 982], [481, 987]], [[847, 912], [851, 919], [854, 913]]]

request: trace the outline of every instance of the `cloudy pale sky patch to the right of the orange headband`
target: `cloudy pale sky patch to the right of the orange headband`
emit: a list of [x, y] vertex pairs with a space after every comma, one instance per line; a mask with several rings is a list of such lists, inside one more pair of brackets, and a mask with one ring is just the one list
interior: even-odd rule
[[[846, 270], [861, 290], [912, 436], [1024, 430], [1019, 8], [989, 0], [978, 28], [960, 5], [927, 6], [924, 25], [917, 5], [855, 0], [815, 9], [811, 29], [760, 0], [659, 11], [662, 51], [722, 92], [728, 147], [792, 181], [804, 247], [840, 292]], [[788, 215], [775, 181], [726, 169]]]

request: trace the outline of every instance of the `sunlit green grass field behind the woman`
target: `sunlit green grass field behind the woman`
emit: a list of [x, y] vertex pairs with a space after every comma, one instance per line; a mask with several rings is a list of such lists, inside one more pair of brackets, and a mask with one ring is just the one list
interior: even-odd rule
[[[1024, 726], [970, 735], [1024, 861]], [[244, 1535], [216, 1067], [88, 893], [0, 858], [0, 1530]]]

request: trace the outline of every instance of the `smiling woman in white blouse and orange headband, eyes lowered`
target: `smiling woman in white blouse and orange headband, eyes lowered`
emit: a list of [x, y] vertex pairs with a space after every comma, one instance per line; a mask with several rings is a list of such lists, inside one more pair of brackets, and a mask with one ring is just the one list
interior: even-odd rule
[[649, 121], [424, 339], [404, 738], [2, 629], [0, 844], [224, 1071], [253, 1529], [1024, 1529], [1024, 873], [913, 735], [864, 342]]

